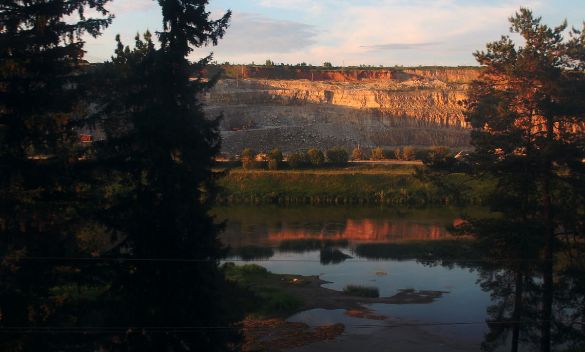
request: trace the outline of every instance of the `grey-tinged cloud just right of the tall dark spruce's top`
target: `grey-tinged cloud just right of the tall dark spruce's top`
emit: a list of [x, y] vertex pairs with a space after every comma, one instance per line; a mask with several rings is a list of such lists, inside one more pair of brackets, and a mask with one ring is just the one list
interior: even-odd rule
[[258, 13], [234, 12], [216, 52], [223, 54], [294, 53], [316, 43], [319, 27], [276, 20]]

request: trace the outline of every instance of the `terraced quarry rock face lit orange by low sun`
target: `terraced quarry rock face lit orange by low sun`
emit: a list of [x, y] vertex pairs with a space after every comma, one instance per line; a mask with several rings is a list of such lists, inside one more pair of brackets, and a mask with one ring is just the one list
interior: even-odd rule
[[[245, 77], [269, 76], [251, 68]], [[209, 117], [223, 113], [223, 151], [469, 147], [458, 102], [478, 70], [298, 71], [302, 79], [220, 80], [202, 96]]]

